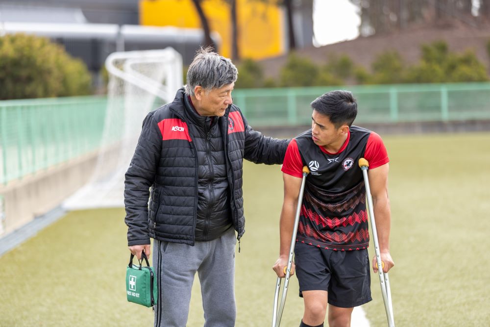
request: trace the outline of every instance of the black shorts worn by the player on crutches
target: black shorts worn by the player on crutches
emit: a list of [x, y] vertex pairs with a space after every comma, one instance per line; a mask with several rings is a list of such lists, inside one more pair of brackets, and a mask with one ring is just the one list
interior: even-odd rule
[[368, 250], [333, 251], [296, 242], [294, 263], [303, 291], [327, 291], [328, 303], [352, 308], [371, 301]]

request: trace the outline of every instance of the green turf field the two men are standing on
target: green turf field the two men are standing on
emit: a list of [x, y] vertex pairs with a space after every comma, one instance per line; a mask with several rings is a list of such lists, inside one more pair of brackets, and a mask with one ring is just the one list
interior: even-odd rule
[[[490, 326], [490, 134], [384, 137], [396, 326]], [[270, 326], [282, 204], [279, 166], [245, 164], [246, 233], [236, 255], [237, 326]], [[152, 326], [128, 303], [123, 209], [76, 211], [0, 257], [0, 326]], [[372, 255], [373, 249], [370, 247]], [[387, 326], [377, 275], [371, 326]], [[299, 325], [292, 278], [282, 326]], [[200, 291], [189, 327], [202, 326]]]

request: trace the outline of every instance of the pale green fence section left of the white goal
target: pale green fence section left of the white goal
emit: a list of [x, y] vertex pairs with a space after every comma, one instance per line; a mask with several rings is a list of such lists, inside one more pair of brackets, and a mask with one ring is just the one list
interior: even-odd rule
[[0, 183], [96, 150], [105, 97], [0, 101]]

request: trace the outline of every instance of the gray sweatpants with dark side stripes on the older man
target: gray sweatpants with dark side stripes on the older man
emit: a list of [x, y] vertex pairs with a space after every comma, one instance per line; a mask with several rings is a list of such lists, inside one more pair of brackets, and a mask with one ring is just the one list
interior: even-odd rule
[[235, 326], [235, 230], [194, 246], [155, 240], [153, 267], [158, 278], [155, 327], [185, 327], [191, 289], [199, 276], [204, 327]]

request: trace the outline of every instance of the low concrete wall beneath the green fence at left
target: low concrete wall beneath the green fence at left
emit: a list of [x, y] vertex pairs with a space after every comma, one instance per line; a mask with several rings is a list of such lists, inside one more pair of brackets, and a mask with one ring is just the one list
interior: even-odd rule
[[3, 231], [0, 235], [24, 226], [72, 195], [92, 175], [97, 156], [98, 152], [92, 152], [0, 186], [4, 215]]

